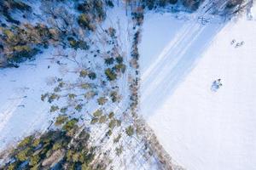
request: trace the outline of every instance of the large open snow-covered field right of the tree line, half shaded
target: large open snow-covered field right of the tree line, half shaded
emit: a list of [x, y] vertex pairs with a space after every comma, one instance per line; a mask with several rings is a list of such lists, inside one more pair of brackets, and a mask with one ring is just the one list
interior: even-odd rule
[[[256, 167], [255, 7], [252, 13], [253, 20], [206, 25], [145, 16], [141, 113], [186, 169]], [[223, 86], [214, 92], [218, 78]]]

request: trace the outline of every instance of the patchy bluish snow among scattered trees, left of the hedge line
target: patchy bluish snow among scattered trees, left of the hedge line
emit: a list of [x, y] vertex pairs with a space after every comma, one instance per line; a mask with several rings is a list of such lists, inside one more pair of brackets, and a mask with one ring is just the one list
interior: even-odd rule
[[[103, 156], [102, 153], [108, 154], [108, 158], [112, 159], [109, 169], [159, 169], [161, 167], [159, 157], [155, 153], [149, 153], [150, 149], [145, 149], [146, 141], [143, 137], [129, 137], [125, 133], [125, 128], [131, 125], [133, 118], [128, 117], [128, 112], [131, 105], [131, 78], [135, 76], [134, 68], [130, 65], [131, 60], [131, 42], [134, 36], [132, 28], [133, 22], [130, 16], [125, 15], [125, 7], [113, 8], [108, 11], [108, 18], [102, 24], [101, 28], [106, 29], [112, 26], [116, 29], [118, 35], [119, 52], [124, 57], [124, 64], [127, 66], [125, 74], [119, 76], [116, 82], [108, 82], [104, 70], [107, 66], [104, 64], [104, 55], [111, 46], [102, 38], [107, 38], [103, 30], [96, 31], [91, 35], [91, 39], [95, 38], [94, 45], [90, 46], [90, 50], [101, 49], [102, 54], [99, 57], [94, 57], [90, 51], [77, 50], [73, 51], [70, 48], [58, 49], [51, 47], [47, 50], [42, 50], [44, 53], [36, 56], [34, 61], [21, 63], [17, 69], [9, 68], [0, 71], [0, 152], [11, 145], [15, 145], [17, 141], [35, 131], [44, 132], [47, 130], [56, 114], [49, 113], [50, 105], [58, 105], [60, 108], [67, 105], [66, 99], [58, 99], [50, 105], [47, 102], [40, 100], [41, 94], [53, 92], [55, 88], [52, 82], [53, 77], [63, 78], [67, 82], [79, 82], [77, 74], [69, 73], [80, 71], [79, 66], [75, 65], [70, 59], [59, 57], [68, 55], [71, 59], [74, 57], [79, 65], [83, 68], [90, 68], [95, 71], [96, 80], [88, 80], [96, 84], [96, 92], [98, 96], [90, 101], [86, 101], [86, 107], [80, 113], [70, 114], [69, 116], [82, 118], [79, 125], [90, 129], [90, 143], [97, 147], [98, 156]], [[54, 59], [49, 59], [54, 58]], [[56, 60], [59, 59], [59, 65]], [[48, 68], [49, 65], [49, 68]], [[74, 66], [75, 65], [75, 66]], [[107, 85], [102, 85], [105, 81]], [[48, 82], [48, 83], [47, 83]], [[113, 103], [108, 97], [105, 105], [98, 105], [97, 100], [100, 96], [108, 95], [113, 86], [118, 86], [119, 94], [122, 95], [119, 103]], [[64, 90], [63, 90], [64, 91]], [[62, 92], [63, 92], [62, 91]], [[80, 94], [80, 88], [68, 90], [68, 93]], [[63, 93], [67, 93], [64, 91]], [[84, 95], [80, 95], [84, 98]], [[90, 125], [90, 118], [94, 111], [100, 109], [105, 114], [113, 111], [115, 116], [122, 121], [122, 126], [113, 129], [111, 137], [106, 136], [108, 132], [108, 124]], [[86, 114], [84, 114], [86, 113]], [[127, 114], [127, 115], [126, 115]], [[126, 117], [125, 117], [126, 116]], [[123, 134], [119, 142], [114, 144], [113, 138], [118, 134]], [[116, 155], [115, 149], [123, 147], [121, 156]], [[2, 162], [1, 162], [2, 161]], [[3, 160], [0, 159], [0, 165]]]

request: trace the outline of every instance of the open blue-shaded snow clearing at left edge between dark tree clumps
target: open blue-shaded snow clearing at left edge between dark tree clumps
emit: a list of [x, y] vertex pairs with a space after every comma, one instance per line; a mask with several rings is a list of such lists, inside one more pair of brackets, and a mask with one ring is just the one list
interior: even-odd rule
[[[47, 59], [51, 51], [47, 49], [37, 60], [17, 69], [0, 71], [0, 150], [24, 135], [47, 128], [51, 117], [49, 105], [40, 98], [50, 88], [46, 83], [48, 78], [58, 72]], [[38, 105], [36, 110], [35, 105]]]

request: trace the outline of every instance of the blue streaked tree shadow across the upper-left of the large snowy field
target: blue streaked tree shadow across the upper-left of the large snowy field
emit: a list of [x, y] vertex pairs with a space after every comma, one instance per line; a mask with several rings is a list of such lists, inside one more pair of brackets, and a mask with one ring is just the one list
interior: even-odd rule
[[152, 18], [144, 23], [139, 48], [140, 107], [144, 118], [154, 114], [175, 92], [225, 26], [225, 22], [202, 24], [198, 20], [177, 20], [168, 14], [148, 17]]

